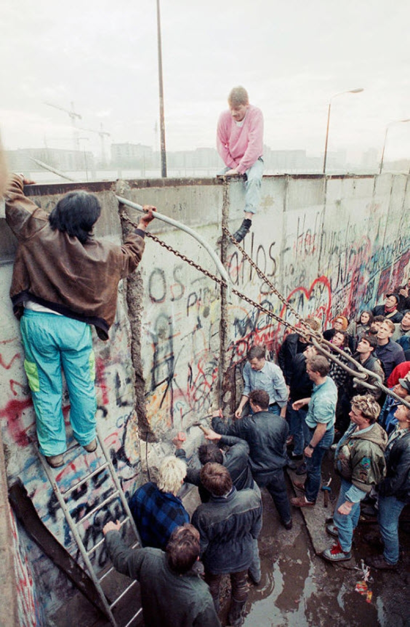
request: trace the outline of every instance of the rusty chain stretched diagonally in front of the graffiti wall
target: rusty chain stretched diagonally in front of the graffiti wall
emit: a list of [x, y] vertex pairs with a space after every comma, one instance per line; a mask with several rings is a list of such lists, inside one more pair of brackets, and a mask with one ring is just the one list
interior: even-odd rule
[[[137, 228], [137, 224], [129, 218], [129, 216], [127, 215], [127, 213], [125, 213], [123, 209], [120, 209], [119, 214], [120, 214], [120, 217], [123, 218], [125, 221], [127, 221], [131, 226], [133, 226], [134, 228]], [[360, 385], [367, 387], [370, 390], [375, 390], [379, 388], [381, 389], [382, 392], [389, 394], [389, 396], [392, 396], [394, 399], [396, 399], [397, 401], [400, 401], [402, 404], [406, 405], [406, 407], [410, 408], [410, 403], [407, 403], [406, 401], [404, 401], [404, 399], [397, 396], [397, 394], [394, 393], [391, 389], [386, 387], [384, 383], [382, 382], [381, 377], [378, 374], [376, 374], [376, 372], [367, 370], [366, 368], [362, 366], [362, 364], [360, 364], [360, 362], [356, 361], [352, 356], [346, 354], [343, 350], [340, 350], [339, 347], [334, 346], [333, 344], [331, 344], [331, 342], [326, 340], [323, 337], [321, 332], [315, 331], [311, 329], [310, 327], [308, 327], [308, 325], [305, 325], [302, 317], [298, 314], [298, 312], [292, 307], [292, 305], [290, 305], [290, 303], [286, 301], [286, 298], [283, 297], [283, 295], [281, 295], [281, 293], [275, 288], [275, 286], [270, 282], [270, 280], [263, 274], [260, 268], [258, 268], [258, 266], [256, 265], [255, 261], [253, 261], [248, 255], [248, 253], [246, 253], [243, 250], [242, 246], [240, 246], [239, 243], [234, 239], [233, 235], [228, 231], [228, 229], [225, 226], [223, 226], [222, 228], [223, 228], [224, 233], [234, 243], [234, 245], [238, 248], [238, 250], [244, 256], [244, 258], [255, 269], [256, 273], [258, 274], [258, 277], [260, 277], [261, 280], [263, 280], [263, 282], [265, 282], [266, 285], [268, 285], [271, 288], [272, 292], [275, 293], [275, 295], [279, 298], [279, 300], [283, 303], [283, 305], [285, 305], [285, 307], [288, 308], [290, 312], [292, 312], [293, 315], [295, 315], [298, 322], [300, 322], [300, 324], [303, 325], [303, 328], [295, 327], [295, 325], [291, 324], [287, 320], [283, 320], [278, 315], [266, 309], [265, 307], [260, 305], [260, 303], [255, 302], [255, 300], [246, 296], [246, 294], [244, 294], [243, 292], [239, 292], [239, 290], [236, 290], [235, 288], [231, 288], [232, 293], [234, 293], [236, 296], [238, 296], [239, 298], [247, 302], [249, 305], [251, 305], [251, 307], [255, 307], [262, 314], [265, 314], [266, 316], [272, 318], [273, 320], [276, 320], [278, 324], [282, 324], [285, 327], [288, 327], [288, 329], [292, 330], [294, 333], [301, 335], [303, 339], [313, 344], [313, 346], [315, 346], [315, 348], [320, 353], [322, 353], [325, 357], [327, 357], [327, 359], [331, 359], [336, 364], [338, 364], [338, 366], [340, 366], [342, 369], [347, 371], [347, 373], [353, 377], [354, 382], [359, 382]], [[209, 270], [206, 270], [206, 268], [202, 268], [202, 266], [199, 265], [199, 263], [196, 263], [194, 260], [190, 259], [183, 253], [180, 253], [175, 248], [172, 248], [172, 246], [170, 246], [169, 244], [166, 244], [163, 240], [160, 240], [159, 238], [157, 238], [156, 235], [149, 233], [149, 231], [145, 231], [145, 236], [157, 242], [157, 244], [162, 246], [162, 248], [165, 248], [173, 255], [176, 255], [177, 257], [182, 259], [182, 261], [186, 261], [188, 265], [190, 265], [192, 268], [195, 268], [197, 271], [201, 272], [203, 275], [210, 278], [215, 283], [218, 283], [218, 285], [221, 285], [222, 287], [226, 288], [226, 282], [224, 282], [223, 279], [221, 279], [220, 277], [216, 277], [216, 275], [211, 273]], [[344, 359], [347, 359], [347, 361], [351, 362], [354, 365], [354, 369], [347, 366], [344, 362], [340, 361], [340, 359], [337, 359], [337, 357], [335, 357], [334, 355], [334, 352], [337, 352], [340, 356], [343, 356]], [[368, 382], [369, 379], [371, 379], [372, 381], [371, 383]]]

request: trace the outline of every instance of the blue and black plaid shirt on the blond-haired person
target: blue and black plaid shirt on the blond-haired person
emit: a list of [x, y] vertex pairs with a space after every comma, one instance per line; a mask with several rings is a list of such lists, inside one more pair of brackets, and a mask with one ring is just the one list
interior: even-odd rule
[[143, 547], [165, 551], [169, 536], [176, 527], [189, 522], [181, 499], [171, 492], [161, 492], [156, 483], [144, 483], [129, 501], [132, 517]]

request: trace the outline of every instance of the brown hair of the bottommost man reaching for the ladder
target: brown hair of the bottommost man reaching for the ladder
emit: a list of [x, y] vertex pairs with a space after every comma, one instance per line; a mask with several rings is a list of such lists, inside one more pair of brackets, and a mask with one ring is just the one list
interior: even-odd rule
[[166, 546], [167, 562], [172, 571], [188, 572], [199, 557], [199, 531], [189, 523], [176, 527]]

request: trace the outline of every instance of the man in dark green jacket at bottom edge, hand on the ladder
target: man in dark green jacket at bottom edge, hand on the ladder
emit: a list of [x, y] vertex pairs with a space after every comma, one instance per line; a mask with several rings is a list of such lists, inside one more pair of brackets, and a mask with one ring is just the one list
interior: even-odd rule
[[119, 522], [108, 522], [103, 534], [115, 569], [140, 583], [145, 627], [221, 627], [209, 587], [192, 571], [199, 559], [195, 527], [174, 529], [166, 552], [130, 549]]

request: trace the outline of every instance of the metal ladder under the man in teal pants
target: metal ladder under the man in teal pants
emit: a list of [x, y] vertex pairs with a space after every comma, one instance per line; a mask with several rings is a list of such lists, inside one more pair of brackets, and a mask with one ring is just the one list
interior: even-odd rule
[[[135, 525], [134, 519], [132, 517], [132, 514], [130, 512], [130, 508], [129, 505], [127, 503], [127, 500], [125, 498], [124, 492], [122, 490], [122, 487], [120, 485], [120, 482], [118, 481], [118, 477], [115, 473], [115, 469], [112, 465], [112, 461], [110, 460], [110, 455], [109, 452], [107, 450], [107, 448], [105, 447], [105, 444], [103, 443], [103, 439], [100, 438], [100, 435], [98, 434], [98, 430], [97, 430], [97, 442], [98, 445], [100, 446], [102, 452], [103, 452], [103, 457], [105, 458], [105, 461], [98, 466], [98, 468], [96, 468], [95, 470], [93, 470], [93, 472], [88, 473], [88, 475], [86, 475], [85, 477], [81, 478], [80, 481], [76, 482], [75, 485], [72, 485], [70, 488], [68, 488], [68, 490], [65, 490], [65, 492], [61, 492], [60, 487], [58, 486], [58, 483], [56, 481], [56, 477], [53, 473], [53, 470], [51, 469], [51, 467], [48, 465], [48, 463], [46, 462], [45, 458], [43, 455], [41, 455], [41, 453], [39, 452], [37, 446], [36, 446], [36, 451], [39, 457], [39, 460], [41, 461], [41, 465], [43, 466], [45, 473], [48, 477], [48, 480], [50, 481], [51, 487], [53, 488], [53, 492], [55, 493], [58, 502], [60, 503], [60, 507], [63, 510], [63, 513], [65, 515], [66, 521], [68, 522], [68, 525], [70, 527], [71, 533], [73, 534], [73, 537], [76, 541], [76, 544], [78, 546], [78, 549], [81, 552], [81, 556], [83, 557], [83, 560], [85, 562], [85, 565], [87, 566], [88, 569], [88, 573], [90, 574], [90, 577], [93, 581], [93, 584], [95, 585], [95, 589], [97, 590], [98, 596], [100, 596], [100, 599], [102, 601], [103, 607], [105, 608], [105, 611], [107, 613], [107, 618], [110, 621], [110, 623], [112, 624], [113, 627], [120, 627], [120, 625], [118, 624], [117, 620], [115, 619], [115, 617], [113, 616], [113, 608], [115, 608], [115, 606], [118, 604], [118, 602], [124, 598], [124, 596], [130, 591], [130, 589], [132, 587], [134, 587], [137, 584], [137, 581], [132, 581], [129, 586], [127, 586], [124, 591], [122, 591], [122, 593], [111, 603], [107, 600], [107, 597], [105, 596], [105, 593], [103, 592], [101, 583], [103, 581], [103, 579], [105, 579], [105, 577], [107, 577], [111, 572], [115, 571], [114, 567], [111, 566], [104, 574], [102, 577], [98, 577], [97, 576], [97, 572], [95, 572], [95, 569], [92, 565], [92, 562], [90, 560], [90, 555], [97, 551], [98, 547], [102, 546], [104, 539], [100, 540], [99, 542], [97, 542], [97, 544], [95, 544], [92, 549], [90, 549], [89, 551], [87, 551], [87, 549], [85, 548], [84, 544], [83, 544], [83, 540], [81, 539], [80, 533], [78, 532], [78, 527], [83, 524], [83, 522], [85, 520], [87, 520], [88, 518], [92, 517], [94, 514], [96, 514], [98, 512], [98, 510], [101, 510], [103, 507], [105, 507], [105, 505], [107, 505], [108, 503], [110, 503], [111, 501], [115, 500], [115, 498], [119, 498], [122, 506], [124, 507], [124, 511], [125, 511], [125, 518], [124, 520], [120, 521], [121, 526], [125, 525], [127, 522], [129, 522], [129, 524], [131, 525], [131, 529], [135, 534], [135, 537], [137, 539], [137, 542], [135, 542], [132, 545], [132, 548], [134, 548], [137, 545], [141, 545], [141, 541], [140, 541], [140, 536], [139, 536], [139, 532], [137, 530], [137, 527]], [[81, 448], [81, 446], [79, 444], [75, 444], [73, 446], [71, 446], [70, 448], [68, 448], [68, 450], [66, 450], [66, 452], [64, 453], [64, 455], [67, 455], [67, 453], [70, 453], [70, 451], [73, 451], [76, 448]], [[68, 505], [66, 503], [66, 498], [70, 496], [70, 494], [78, 487], [80, 487], [81, 485], [83, 485], [85, 482], [87, 482], [90, 478], [94, 477], [94, 475], [97, 475], [98, 473], [100, 473], [102, 470], [104, 470], [105, 468], [108, 469], [108, 472], [111, 475], [113, 484], [115, 485], [115, 490], [114, 492], [112, 492], [110, 494], [109, 497], [105, 498], [105, 500], [103, 500], [102, 503], [99, 503], [99, 505], [97, 505], [96, 507], [94, 507], [92, 510], [90, 510], [90, 512], [88, 512], [87, 514], [85, 514], [80, 520], [78, 520], [78, 522], [75, 522], [75, 520], [73, 519], [73, 517], [70, 514], [70, 511], [68, 510]], [[56, 468], [55, 470], [57, 471], [61, 471], [61, 467], [60, 468]], [[134, 623], [135, 619], [137, 618], [137, 616], [139, 616], [139, 614], [142, 612], [142, 608], [140, 608], [135, 614], [134, 616], [132, 616], [132, 618], [128, 621], [127, 624], [125, 624], [124, 627], [130, 627], [132, 623]]]

